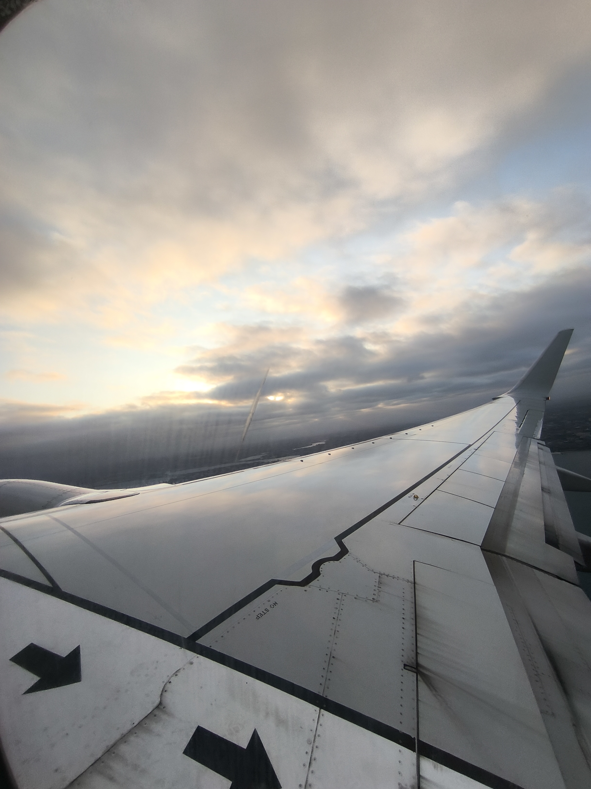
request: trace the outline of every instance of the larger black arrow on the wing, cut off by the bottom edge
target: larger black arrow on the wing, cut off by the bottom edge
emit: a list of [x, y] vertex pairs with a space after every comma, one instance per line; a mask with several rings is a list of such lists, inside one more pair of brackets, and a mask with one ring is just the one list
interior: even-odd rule
[[246, 748], [241, 748], [198, 726], [183, 753], [232, 781], [230, 789], [281, 789], [256, 729]]

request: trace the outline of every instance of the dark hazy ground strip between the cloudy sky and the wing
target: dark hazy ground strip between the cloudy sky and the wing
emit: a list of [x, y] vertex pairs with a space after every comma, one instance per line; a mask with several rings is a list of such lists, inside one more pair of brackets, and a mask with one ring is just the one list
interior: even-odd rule
[[[246, 409], [163, 406], [75, 420], [6, 424], [0, 428], [0, 478], [90, 488], [182, 482], [395, 432], [478, 405], [482, 399], [472, 393], [399, 409], [328, 418], [299, 414], [299, 419], [293, 414], [269, 417], [263, 405], [238, 463], [236, 450]], [[591, 448], [589, 400], [548, 404], [542, 438], [552, 451]]]

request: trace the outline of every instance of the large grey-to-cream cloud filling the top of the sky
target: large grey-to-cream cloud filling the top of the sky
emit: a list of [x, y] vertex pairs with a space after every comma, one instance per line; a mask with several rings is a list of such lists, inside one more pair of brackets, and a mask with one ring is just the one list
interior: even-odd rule
[[[120, 24], [117, 9], [45, 0], [3, 34], [14, 74], [3, 116], [21, 133], [5, 137], [2, 156], [15, 218], [2, 294], [13, 315], [90, 309], [112, 321], [113, 294], [120, 314], [149, 308], [248, 260], [282, 263], [365, 230], [384, 200], [418, 200], [454, 181], [459, 162], [591, 44], [574, 5], [560, 22], [515, 9], [512, 21], [507, 9], [455, 18], [445, 5], [426, 21], [378, 2], [372, 24], [331, 2], [233, 9], [231, 24], [223, 3], [214, 13], [175, 6], [138, 4]], [[337, 8], [339, 34], [310, 36]], [[498, 58], [507, 28], [525, 19], [537, 46], [508, 42], [511, 58]], [[196, 48], [191, 29], [209, 46]], [[461, 80], [450, 39], [462, 41]], [[31, 140], [32, 121], [54, 134]]]

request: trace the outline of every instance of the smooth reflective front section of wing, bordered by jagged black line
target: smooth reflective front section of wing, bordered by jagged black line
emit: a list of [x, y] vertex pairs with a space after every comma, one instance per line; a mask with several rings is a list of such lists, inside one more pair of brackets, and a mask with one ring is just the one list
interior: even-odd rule
[[[61, 589], [189, 635], [446, 467], [514, 408], [511, 398], [496, 401], [465, 420], [451, 417], [303, 463], [20, 516], [7, 528]], [[325, 555], [338, 550], [331, 544]], [[285, 580], [310, 570], [311, 562]]]

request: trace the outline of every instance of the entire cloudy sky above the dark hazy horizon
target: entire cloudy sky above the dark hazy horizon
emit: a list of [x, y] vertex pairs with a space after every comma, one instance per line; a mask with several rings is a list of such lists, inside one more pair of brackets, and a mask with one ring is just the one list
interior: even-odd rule
[[267, 368], [262, 418], [453, 411], [564, 327], [588, 396], [590, 140], [583, 0], [34, 3], [0, 35], [0, 415], [247, 411]]

